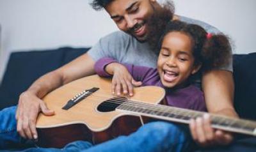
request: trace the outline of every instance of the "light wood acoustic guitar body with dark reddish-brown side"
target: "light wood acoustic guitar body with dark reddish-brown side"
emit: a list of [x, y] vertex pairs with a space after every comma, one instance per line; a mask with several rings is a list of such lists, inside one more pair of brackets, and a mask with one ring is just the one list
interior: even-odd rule
[[[62, 109], [75, 95], [93, 87], [99, 89], [70, 109]], [[157, 104], [163, 98], [163, 88], [147, 86], [134, 88], [134, 96], [127, 99]], [[109, 99], [115, 102], [111, 79], [97, 75], [75, 80], [52, 91], [43, 100], [49, 109], [54, 110], [54, 116], [40, 114], [36, 121], [39, 145], [62, 148], [77, 140], [100, 143], [136, 131], [141, 126], [140, 116], [115, 108], [100, 111], [102, 102]]]

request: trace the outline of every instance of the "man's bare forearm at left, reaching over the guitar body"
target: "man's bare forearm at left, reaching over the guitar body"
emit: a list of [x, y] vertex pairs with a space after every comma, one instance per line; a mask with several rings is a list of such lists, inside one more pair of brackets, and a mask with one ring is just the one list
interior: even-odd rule
[[72, 80], [79, 79], [94, 73], [93, 66], [95, 62], [87, 53], [77, 57], [67, 65], [49, 72], [37, 79], [28, 91], [32, 92], [38, 98], [44, 97], [53, 89], [67, 84]]

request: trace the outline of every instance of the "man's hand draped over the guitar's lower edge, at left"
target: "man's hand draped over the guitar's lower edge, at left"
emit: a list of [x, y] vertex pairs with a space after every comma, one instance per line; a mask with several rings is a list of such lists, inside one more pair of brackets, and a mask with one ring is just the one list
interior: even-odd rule
[[54, 111], [47, 109], [45, 103], [34, 93], [26, 91], [20, 95], [17, 106], [17, 132], [25, 139], [37, 139], [36, 118], [39, 112], [45, 116], [54, 115]]

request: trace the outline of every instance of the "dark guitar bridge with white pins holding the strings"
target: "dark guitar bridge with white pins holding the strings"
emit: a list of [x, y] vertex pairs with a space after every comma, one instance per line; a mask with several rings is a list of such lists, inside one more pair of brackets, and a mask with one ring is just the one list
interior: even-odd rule
[[68, 100], [68, 102], [66, 103], [66, 105], [64, 107], [62, 107], [62, 109], [63, 110], [70, 109], [71, 107], [73, 107], [77, 103], [81, 102], [84, 98], [86, 98], [87, 96], [90, 96], [92, 93], [94, 93], [98, 89], [99, 89], [98, 87], [93, 87], [92, 89], [88, 89], [88, 90], [82, 91], [81, 93], [78, 93], [72, 99]]

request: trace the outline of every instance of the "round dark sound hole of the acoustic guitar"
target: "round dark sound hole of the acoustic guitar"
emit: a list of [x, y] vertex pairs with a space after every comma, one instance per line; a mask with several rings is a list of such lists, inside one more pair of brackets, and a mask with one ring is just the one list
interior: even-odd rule
[[118, 96], [115, 98], [110, 98], [109, 100], [106, 100], [97, 107], [97, 110], [99, 112], [111, 112], [116, 109], [119, 105], [127, 101], [127, 98]]

